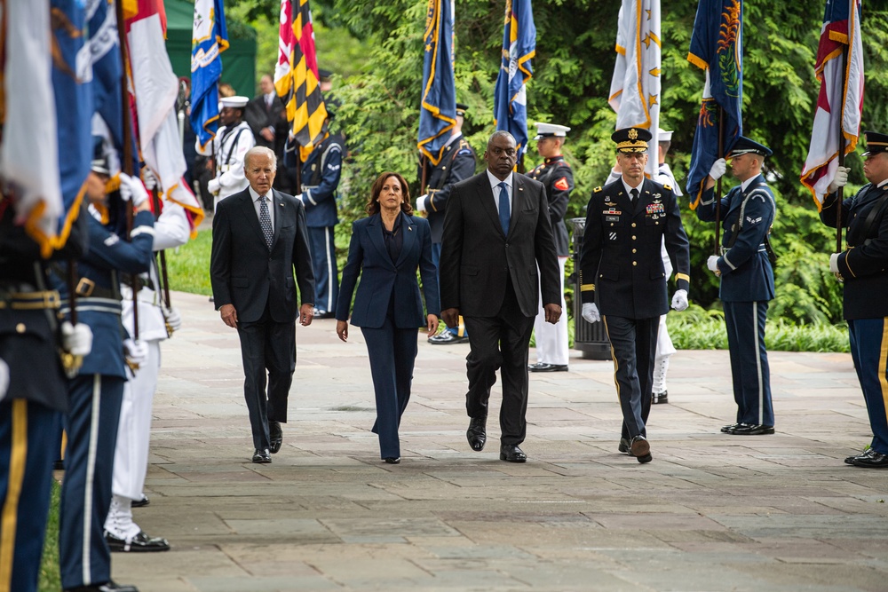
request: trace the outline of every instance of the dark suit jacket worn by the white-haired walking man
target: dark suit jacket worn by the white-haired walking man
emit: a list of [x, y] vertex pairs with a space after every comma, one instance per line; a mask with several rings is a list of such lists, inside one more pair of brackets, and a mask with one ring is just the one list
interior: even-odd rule
[[275, 322], [297, 318], [296, 283], [302, 303], [314, 302], [312, 255], [305, 207], [292, 195], [272, 190], [274, 242], [269, 253], [250, 190], [219, 201], [213, 218], [210, 280], [218, 310], [234, 304], [240, 322], [259, 320], [269, 304]]

